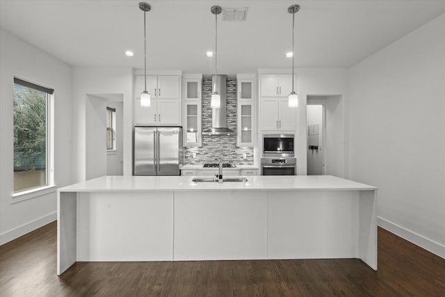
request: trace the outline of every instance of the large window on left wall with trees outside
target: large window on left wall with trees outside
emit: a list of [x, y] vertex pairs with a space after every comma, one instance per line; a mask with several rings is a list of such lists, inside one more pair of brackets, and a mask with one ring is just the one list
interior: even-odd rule
[[53, 89], [14, 78], [14, 193], [52, 184], [49, 119]]

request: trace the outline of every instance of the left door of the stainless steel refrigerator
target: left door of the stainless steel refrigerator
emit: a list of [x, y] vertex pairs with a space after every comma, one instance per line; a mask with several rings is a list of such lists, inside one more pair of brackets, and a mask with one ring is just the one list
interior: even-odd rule
[[134, 175], [156, 175], [156, 127], [134, 128]]

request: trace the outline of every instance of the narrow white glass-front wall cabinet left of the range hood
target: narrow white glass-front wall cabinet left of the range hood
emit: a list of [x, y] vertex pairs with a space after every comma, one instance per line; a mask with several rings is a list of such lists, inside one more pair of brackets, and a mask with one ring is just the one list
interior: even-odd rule
[[202, 74], [188, 74], [183, 79], [184, 146], [200, 146]]

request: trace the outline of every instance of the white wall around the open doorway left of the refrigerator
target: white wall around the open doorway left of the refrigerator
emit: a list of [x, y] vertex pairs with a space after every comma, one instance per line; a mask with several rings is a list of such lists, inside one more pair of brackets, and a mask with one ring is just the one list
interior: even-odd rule
[[133, 69], [131, 67], [74, 67], [73, 70], [74, 182], [86, 180], [86, 102], [88, 95], [120, 94], [123, 98], [124, 175], [131, 175], [133, 131]]

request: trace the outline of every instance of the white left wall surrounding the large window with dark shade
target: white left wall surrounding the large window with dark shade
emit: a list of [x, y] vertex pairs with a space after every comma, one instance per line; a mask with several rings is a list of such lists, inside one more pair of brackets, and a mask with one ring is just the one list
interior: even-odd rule
[[56, 190], [11, 203], [13, 194], [13, 77], [54, 88], [54, 182], [72, 183], [72, 72], [57, 60], [0, 30], [0, 244], [56, 219]]

